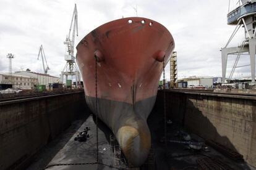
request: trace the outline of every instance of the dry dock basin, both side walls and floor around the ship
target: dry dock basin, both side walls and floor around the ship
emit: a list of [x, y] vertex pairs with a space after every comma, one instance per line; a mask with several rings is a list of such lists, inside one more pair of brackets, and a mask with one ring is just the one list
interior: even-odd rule
[[[164, 145], [163, 95], [166, 95], [168, 146]], [[148, 118], [152, 144], [150, 156], [140, 169], [255, 169], [255, 101], [253, 94], [207, 91], [158, 91]], [[0, 169], [129, 169], [111, 131], [99, 123], [99, 163], [96, 161], [96, 124], [82, 91], [25, 97], [0, 102]], [[90, 127], [85, 142], [74, 138]], [[68, 129], [67, 129], [68, 127]], [[65, 130], [66, 129], [66, 130]], [[178, 131], [190, 134], [208, 150], [195, 151], [181, 141]], [[241, 154], [208, 145], [213, 140]], [[230, 152], [230, 150], [229, 150]], [[208, 168], [210, 169], [210, 168]]]

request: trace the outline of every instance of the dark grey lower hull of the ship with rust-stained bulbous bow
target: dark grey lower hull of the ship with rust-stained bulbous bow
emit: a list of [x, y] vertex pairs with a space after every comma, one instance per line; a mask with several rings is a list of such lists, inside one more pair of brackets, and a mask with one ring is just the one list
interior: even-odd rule
[[[95, 97], [85, 96], [88, 106], [96, 113]], [[147, 159], [151, 136], [147, 118], [156, 96], [140, 100], [134, 105], [98, 99], [98, 117], [113, 131], [129, 164], [139, 167]]]

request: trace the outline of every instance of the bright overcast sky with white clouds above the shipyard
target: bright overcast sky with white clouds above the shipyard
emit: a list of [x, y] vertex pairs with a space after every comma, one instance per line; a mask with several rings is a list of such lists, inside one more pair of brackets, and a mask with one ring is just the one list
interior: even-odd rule
[[[235, 1], [235, 0], [234, 0]], [[59, 76], [66, 61], [63, 41], [69, 31], [74, 4], [77, 4], [79, 36], [103, 23], [135, 16], [160, 22], [173, 34], [177, 51], [178, 76], [221, 76], [221, 47], [225, 46], [235, 26], [227, 25], [228, 0], [0, 0], [0, 72], [7, 72], [7, 53], [14, 54], [12, 70], [30, 68], [43, 73], [37, 60], [41, 44], [49, 64], [49, 74]], [[231, 4], [234, 2], [231, 0]], [[231, 45], [241, 44], [244, 30], [240, 30]], [[228, 71], [235, 57], [228, 59]], [[249, 64], [243, 56], [238, 65]], [[166, 67], [169, 79], [169, 66]], [[237, 68], [234, 77], [250, 76], [250, 67]]]

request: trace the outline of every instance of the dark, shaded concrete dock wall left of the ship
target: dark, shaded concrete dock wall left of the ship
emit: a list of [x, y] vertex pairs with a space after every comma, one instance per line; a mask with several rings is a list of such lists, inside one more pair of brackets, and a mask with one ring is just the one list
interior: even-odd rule
[[0, 102], [0, 169], [23, 169], [85, 107], [83, 91]]

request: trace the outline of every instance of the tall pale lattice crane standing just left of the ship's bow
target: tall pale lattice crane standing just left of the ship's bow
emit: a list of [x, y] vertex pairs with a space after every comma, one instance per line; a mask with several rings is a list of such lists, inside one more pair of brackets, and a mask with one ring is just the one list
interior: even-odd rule
[[[73, 30], [72, 30], [73, 29]], [[72, 36], [70, 39], [70, 33], [72, 31]], [[75, 63], [75, 56], [74, 56], [74, 45], [75, 45], [75, 33], [78, 36], [78, 26], [77, 26], [77, 4], [75, 4], [74, 12], [69, 28], [69, 34], [66, 37], [66, 41], [64, 41], [64, 44], [67, 45], [67, 54], [64, 55], [64, 59], [67, 61], [65, 67], [63, 68], [61, 72], [61, 81], [64, 82], [64, 75], [67, 77], [71, 76], [71, 79], [73, 76], [75, 76], [75, 85], [80, 85], [80, 72], [79, 68], [77, 67], [77, 64]]]

